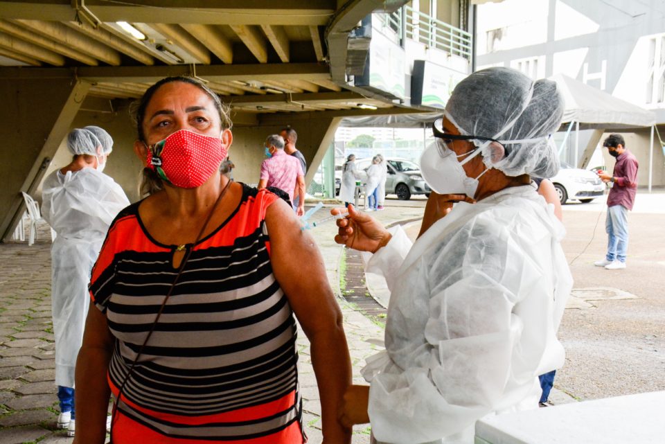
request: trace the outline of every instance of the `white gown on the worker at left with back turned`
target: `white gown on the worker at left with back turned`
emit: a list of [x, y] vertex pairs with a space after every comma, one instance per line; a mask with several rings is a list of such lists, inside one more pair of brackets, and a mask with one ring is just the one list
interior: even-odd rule
[[42, 215], [57, 233], [51, 247], [56, 385], [74, 387], [90, 272], [109, 225], [129, 204], [121, 186], [94, 168], [65, 175], [56, 170], [44, 181]]

